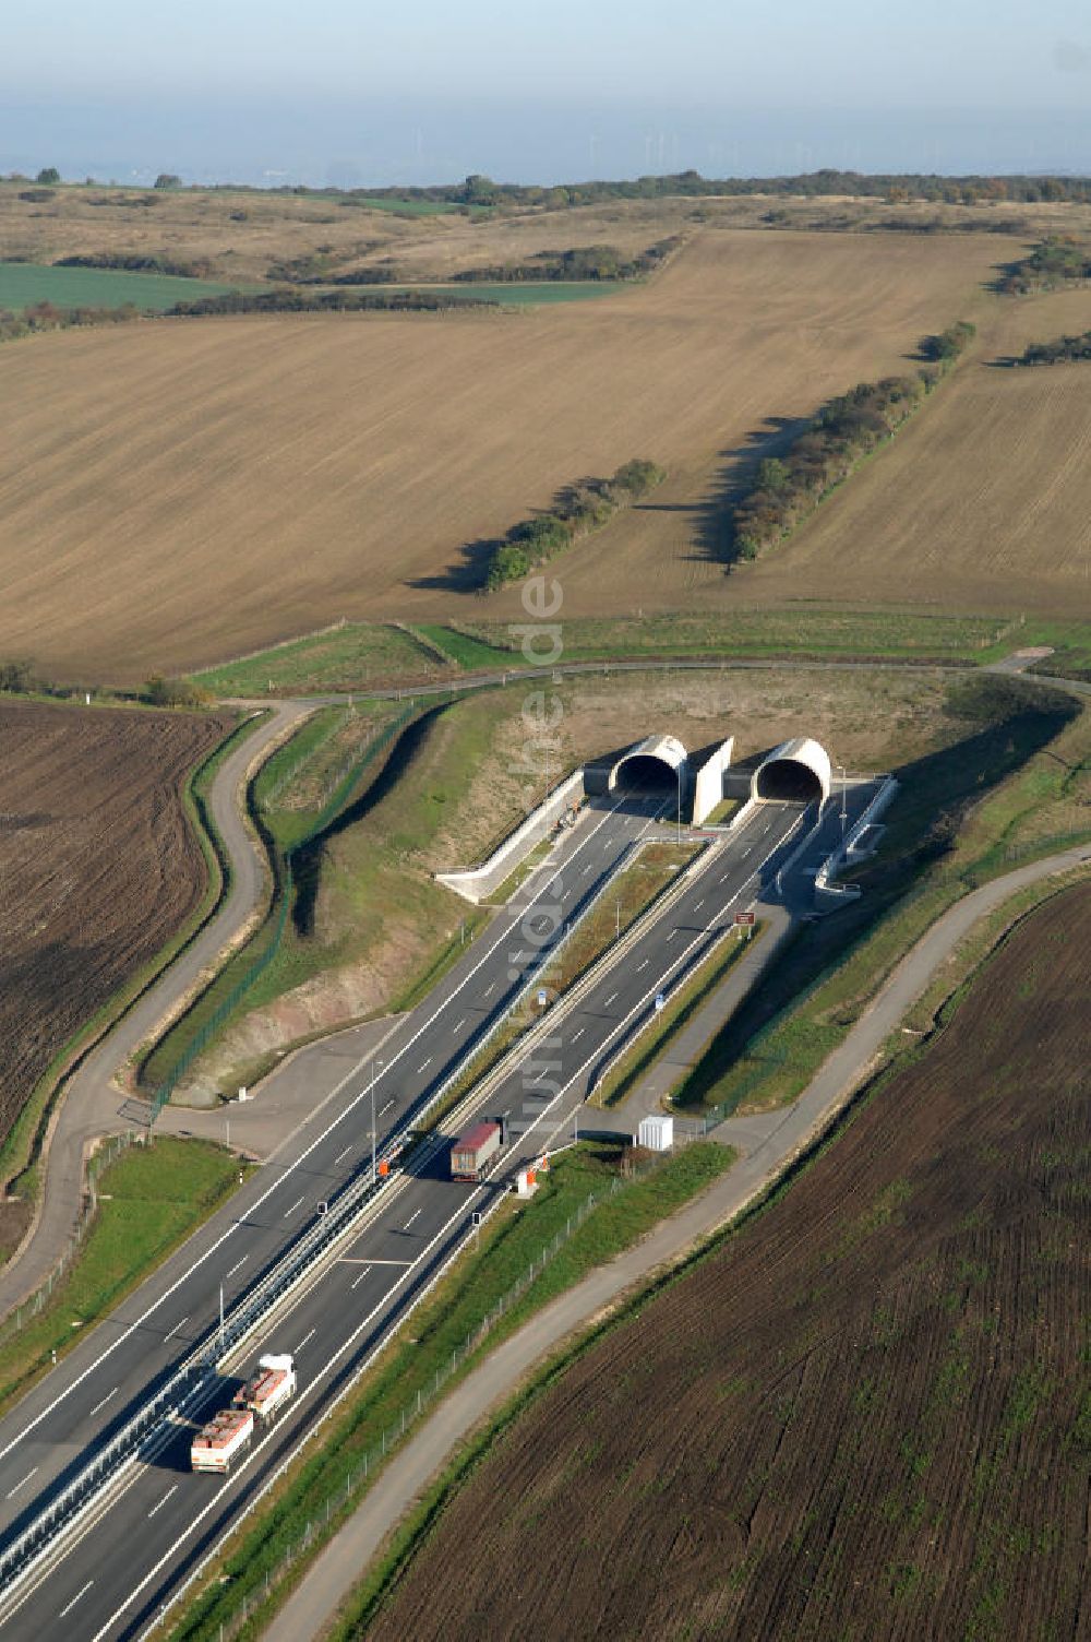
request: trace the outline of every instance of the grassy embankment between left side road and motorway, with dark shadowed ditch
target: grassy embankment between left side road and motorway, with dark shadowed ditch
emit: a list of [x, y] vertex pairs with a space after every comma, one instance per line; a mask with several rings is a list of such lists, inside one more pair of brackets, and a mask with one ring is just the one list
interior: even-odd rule
[[[502, 696], [466, 706], [474, 711], [443, 706], [422, 711], [392, 745], [371, 759], [367, 749], [374, 736], [405, 708], [372, 703], [351, 714], [346, 708], [323, 708], [259, 772], [251, 811], [277, 862], [310, 834], [323, 806], [326, 821], [292, 857], [294, 885], [276, 956], [240, 1000], [218, 1039], [231, 1033], [243, 1015], [333, 970], [366, 970], [338, 1025], [410, 1008], [484, 924], [487, 911], [468, 906], [435, 883], [423, 865], [484, 757], [497, 719], [510, 713]], [[351, 762], [353, 745], [359, 754], [356, 764]], [[346, 775], [340, 788], [335, 787], [330, 816], [331, 795], [323, 785], [323, 772], [336, 777], [341, 768]], [[512, 816], [512, 823], [515, 819]], [[166, 1077], [274, 943], [284, 882], [281, 867], [262, 929], [156, 1044], [141, 1067], [146, 1087]], [[304, 1043], [323, 1031], [328, 1025], [318, 1021], [313, 1031], [292, 1041]], [[230, 1067], [217, 1072], [217, 1082], [223, 1087], [254, 1082], [274, 1064], [276, 1048], [240, 1048], [238, 1057], [230, 1056]]]

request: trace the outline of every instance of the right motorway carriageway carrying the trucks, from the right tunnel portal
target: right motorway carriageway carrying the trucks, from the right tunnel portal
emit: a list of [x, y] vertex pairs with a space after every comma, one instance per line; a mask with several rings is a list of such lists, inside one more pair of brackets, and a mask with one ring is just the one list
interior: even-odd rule
[[[865, 801], [860, 793], [856, 813]], [[517, 1161], [535, 1156], [545, 1138], [569, 1120], [604, 1054], [650, 1013], [656, 990], [668, 988], [697, 961], [717, 929], [753, 903], [796, 847], [802, 824], [802, 806], [761, 806], [750, 826], [717, 847], [707, 870], [645, 933], [625, 962], [597, 982], [563, 1023], [556, 1041], [545, 1053], [533, 1051], [489, 1098], [486, 1110], [509, 1110], [515, 1130], [515, 1143], [499, 1172], [510, 1174]], [[840, 821], [837, 828], [840, 832]], [[573, 862], [571, 870], [582, 875], [582, 864]], [[64, 1622], [75, 1624], [79, 1608], [75, 1635], [95, 1635], [100, 1626], [107, 1627], [103, 1634], [133, 1634], [133, 1614], [146, 1616], [164, 1599], [179, 1570], [221, 1532], [240, 1498], [266, 1473], [269, 1455], [295, 1440], [315, 1406], [376, 1348], [392, 1320], [404, 1314], [413, 1289], [427, 1281], [448, 1246], [468, 1233], [468, 1215], [484, 1200], [482, 1189], [446, 1181], [445, 1156], [441, 1151], [425, 1176], [392, 1189], [390, 1200], [377, 1205], [374, 1223], [326, 1268], [269, 1338], [253, 1345], [248, 1361], [240, 1366], [240, 1374], [249, 1373], [262, 1348], [299, 1353], [300, 1401], [277, 1427], [276, 1442], [254, 1453], [231, 1483], [212, 1479], [213, 1498], [208, 1478], [184, 1470], [187, 1443], [182, 1437], [172, 1456], [143, 1468], [113, 1504], [110, 1530], [92, 1530], [49, 1581], [31, 1593], [5, 1626], [7, 1634], [31, 1635], [56, 1622], [69, 1603], [74, 1606]], [[228, 1396], [220, 1401], [226, 1402]], [[167, 1475], [166, 1466], [179, 1468]], [[210, 1504], [208, 1511], [203, 1502]], [[153, 1534], [146, 1532], [149, 1522]], [[141, 1547], [138, 1557], [133, 1545]], [[121, 1614], [120, 1604], [144, 1578], [148, 1583], [136, 1606]]]

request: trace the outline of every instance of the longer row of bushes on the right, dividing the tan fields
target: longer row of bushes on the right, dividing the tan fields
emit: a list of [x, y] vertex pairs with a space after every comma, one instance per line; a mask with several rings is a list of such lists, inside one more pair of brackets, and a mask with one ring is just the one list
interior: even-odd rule
[[975, 337], [966, 320], [920, 342], [930, 363], [915, 376], [884, 376], [822, 406], [783, 456], [758, 463], [753, 489], [732, 514], [737, 558], [756, 558], [802, 524], [856, 463], [906, 422]]

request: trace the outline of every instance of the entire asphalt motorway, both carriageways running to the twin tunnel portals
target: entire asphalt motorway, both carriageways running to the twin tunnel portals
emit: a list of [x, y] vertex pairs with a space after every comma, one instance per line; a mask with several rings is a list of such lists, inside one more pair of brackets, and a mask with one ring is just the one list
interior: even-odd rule
[[[871, 787], [850, 791], [850, 824], [871, 795]], [[525, 931], [574, 916], [628, 847], [655, 828], [660, 803], [628, 798], [589, 808], [550, 867], [535, 874], [427, 1005], [399, 1028], [374, 1076], [381, 1136], [428, 1098], [504, 1010], [520, 982], [515, 954], [525, 951]], [[835, 808], [827, 806], [827, 849], [840, 836]], [[763, 805], [745, 826], [712, 846], [692, 882], [623, 962], [607, 970], [548, 1044], [532, 1051], [489, 1097], [484, 1110], [507, 1112], [514, 1131], [495, 1179], [456, 1186], [445, 1177], [446, 1148], [425, 1146], [413, 1172], [387, 1187], [369, 1223], [299, 1294], [289, 1315], [267, 1338], [254, 1338], [240, 1363], [231, 1363], [233, 1374], [243, 1378], [262, 1350], [292, 1350], [299, 1360], [300, 1396], [249, 1460], [226, 1481], [194, 1476], [187, 1466], [190, 1432], [179, 1432], [154, 1463], [126, 1473], [128, 1484], [112, 1499], [108, 1514], [44, 1583], [30, 1589], [7, 1617], [5, 1635], [30, 1637], [61, 1622], [72, 1637], [126, 1637], [149, 1624], [171, 1588], [221, 1535], [302, 1427], [379, 1346], [468, 1235], [474, 1210], [486, 1207], [515, 1164], [538, 1153], [569, 1118], [602, 1057], [653, 1010], [656, 992], [668, 990], [725, 921], [776, 877], [804, 824], [809, 821], [799, 805]], [[371, 1084], [371, 1067], [356, 1067], [313, 1131], [304, 1126], [290, 1153], [249, 1181], [228, 1212], [217, 1215], [0, 1422], [5, 1539], [215, 1327], [220, 1284], [230, 1309], [313, 1223], [320, 1200], [369, 1171]], [[235, 1383], [213, 1391], [210, 1406], [230, 1401]]]

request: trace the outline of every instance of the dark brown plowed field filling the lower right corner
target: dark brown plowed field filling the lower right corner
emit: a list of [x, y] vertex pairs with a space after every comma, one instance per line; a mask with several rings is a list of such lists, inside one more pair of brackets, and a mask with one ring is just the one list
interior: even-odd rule
[[369, 1642], [1091, 1634], [1091, 885], [545, 1392]]

